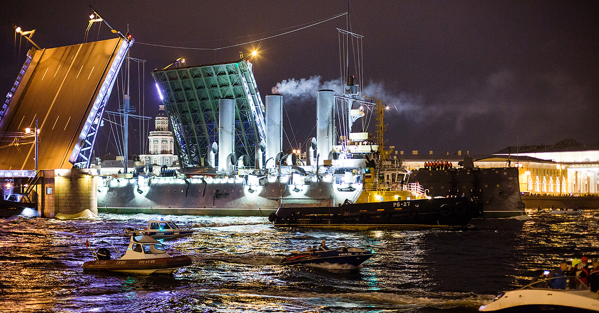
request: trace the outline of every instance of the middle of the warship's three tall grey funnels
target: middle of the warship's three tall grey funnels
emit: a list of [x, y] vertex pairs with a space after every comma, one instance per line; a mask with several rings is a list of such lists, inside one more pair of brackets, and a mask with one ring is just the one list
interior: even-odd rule
[[266, 159], [283, 150], [283, 96], [267, 95], [266, 107]]

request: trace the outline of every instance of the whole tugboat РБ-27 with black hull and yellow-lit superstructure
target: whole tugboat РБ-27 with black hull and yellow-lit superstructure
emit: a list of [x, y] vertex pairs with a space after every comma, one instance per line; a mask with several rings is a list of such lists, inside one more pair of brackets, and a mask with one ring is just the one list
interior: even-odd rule
[[[350, 86], [352, 87], [352, 86]], [[334, 151], [347, 154], [347, 157], [365, 157], [367, 162], [362, 169], [334, 169], [329, 180], [344, 181], [347, 187], [340, 191], [362, 189], [357, 199], [345, 199], [339, 206], [300, 206], [292, 204], [280, 206], [268, 220], [275, 226], [336, 227], [344, 229], [429, 229], [463, 227], [472, 218], [482, 217], [483, 203], [470, 197], [435, 197], [426, 195], [426, 190], [418, 183], [409, 183], [410, 172], [401, 159], [389, 158], [395, 147], [385, 150], [383, 138], [385, 108], [379, 99], [374, 99], [377, 112], [377, 144], [362, 145], [350, 141], [349, 145], [337, 145]], [[363, 147], [377, 148], [377, 151], [364, 151]], [[351, 153], [348, 153], [351, 152]], [[358, 151], [364, 151], [359, 154]], [[351, 159], [343, 159], [350, 163]], [[362, 159], [363, 160], [363, 159]], [[331, 166], [323, 166], [332, 171]], [[364, 171], [359, 184], [354, 173]], [[353, 178], [353, 180], [352, 180]], [[323, 178], [326, 181], [326, 177]], [[326, 201], [326, 199], [325, 199]], [[334, 202], [334, 201], [333, 201]]]

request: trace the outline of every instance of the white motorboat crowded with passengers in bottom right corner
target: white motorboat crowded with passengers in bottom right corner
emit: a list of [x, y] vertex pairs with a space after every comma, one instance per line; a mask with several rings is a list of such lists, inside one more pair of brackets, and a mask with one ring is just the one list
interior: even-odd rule
[[[558, 288], [561, 285], [562, 288]], [[556, 287], [556, 288], [552, 288]], [[545, 279], [541, 276], [518, 290], [504, 291], [479, 311], [497, 311], [515, 306], [558, 306], [599, 311], [599, 294], [576, 276]]]

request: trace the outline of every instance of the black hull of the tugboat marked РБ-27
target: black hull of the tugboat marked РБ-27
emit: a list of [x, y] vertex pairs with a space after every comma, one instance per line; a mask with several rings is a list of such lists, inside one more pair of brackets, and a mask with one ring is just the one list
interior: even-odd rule
[[449, 197], [321, 208], [279, 208], [268, 219], [275, 226], [417, 230], [464, 227], [482, 214], [482, 203], [468, 197]]

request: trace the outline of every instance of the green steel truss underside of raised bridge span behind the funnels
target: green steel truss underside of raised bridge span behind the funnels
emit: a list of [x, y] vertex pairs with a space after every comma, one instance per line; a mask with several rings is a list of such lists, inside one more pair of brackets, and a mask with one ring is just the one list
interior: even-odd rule
[[235, 155], [246, 156], [246, 166], [254, 165], [254, 147], [265, 139], [265, 121], [252, 63], [161, 69], [152, 76], [176, 137], [181, 168], [208, 164], [208, 145], [218, 142], [220, 99], [235, 99]]

